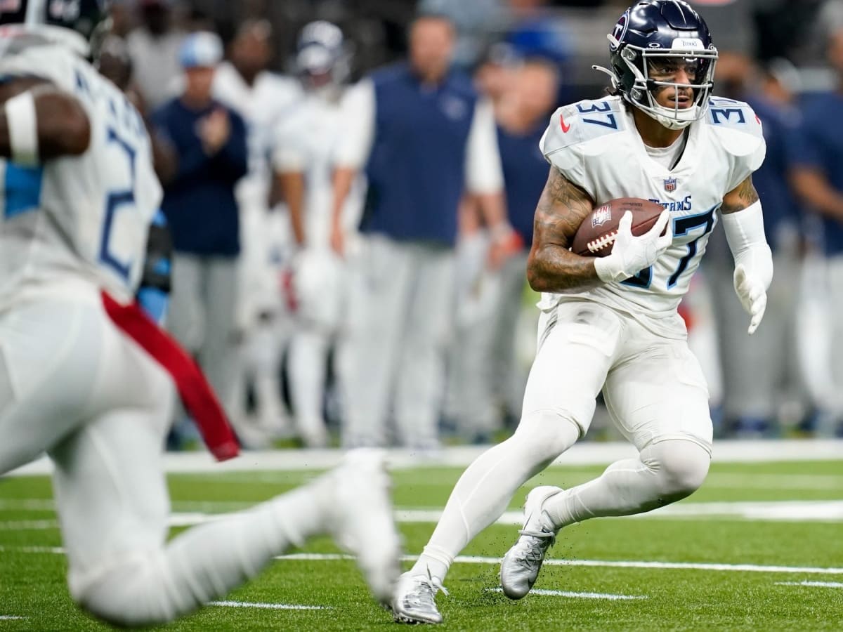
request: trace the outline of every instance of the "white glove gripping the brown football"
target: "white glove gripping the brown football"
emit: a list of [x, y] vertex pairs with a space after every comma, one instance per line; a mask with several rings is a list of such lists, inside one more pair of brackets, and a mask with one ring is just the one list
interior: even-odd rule
[[[627, 211], [618, 223], [611, 254], [594, 260], [594, 269], [600, 281], [618, 282], [636, 276], [653, 265], [674, 240], [669, 211], [663, 211], [652, 228], [640, 237], [632, 234], [631, 227], [632, 213]], [[664, 234], [662, 231], [665, 231]]]

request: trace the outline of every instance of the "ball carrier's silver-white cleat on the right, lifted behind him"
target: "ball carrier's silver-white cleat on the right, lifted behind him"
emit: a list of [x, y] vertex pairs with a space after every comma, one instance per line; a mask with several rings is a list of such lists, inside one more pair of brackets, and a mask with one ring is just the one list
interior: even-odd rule
[[561, 492], [558, 487], [536, 487], [524, 502], [524, 528], [518, 541], [503, 556], [501, 586], [510, 599], [524, 597], [539, 576], [547, 549], [556, 542], [556, 533], [541, 526], [541, 506], [552, 495]]

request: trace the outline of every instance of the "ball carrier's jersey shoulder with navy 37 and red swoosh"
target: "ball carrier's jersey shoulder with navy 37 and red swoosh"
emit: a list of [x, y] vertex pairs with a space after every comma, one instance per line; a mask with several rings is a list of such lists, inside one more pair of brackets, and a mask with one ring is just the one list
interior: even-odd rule
[[548, 159], [559, 153], [603, 153], [610, 147], [612, 137], [626, 129], [623, 109], [620, 97], [563, 105], [550, 116], [550, 125], [541, 139], [542, 153]]

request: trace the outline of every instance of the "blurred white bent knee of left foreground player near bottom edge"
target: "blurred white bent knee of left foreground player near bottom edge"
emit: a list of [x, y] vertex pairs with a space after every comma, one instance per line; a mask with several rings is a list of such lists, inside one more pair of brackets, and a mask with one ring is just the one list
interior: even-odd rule
[[163, 552], [132, 556], [85, 579], [71, 592], [80, 607], [112, 625], [138, 627], [165, 624], [198, 604], [180, 604], [168, 591]]

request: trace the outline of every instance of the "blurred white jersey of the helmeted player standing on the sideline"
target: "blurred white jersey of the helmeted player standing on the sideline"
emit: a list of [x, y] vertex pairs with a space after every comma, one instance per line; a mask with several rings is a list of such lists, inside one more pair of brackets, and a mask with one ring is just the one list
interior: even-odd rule
[[[339, 102], [313, 92], [277, 128], [275, 169], [304, 173], [304, 231], [309, 246], [326, 247], [330, 241], [336, 149], [349, 124]], [[364, 194], [362, 178], [357, 178], [342, 212], [346, 233], [357, 230]]]

